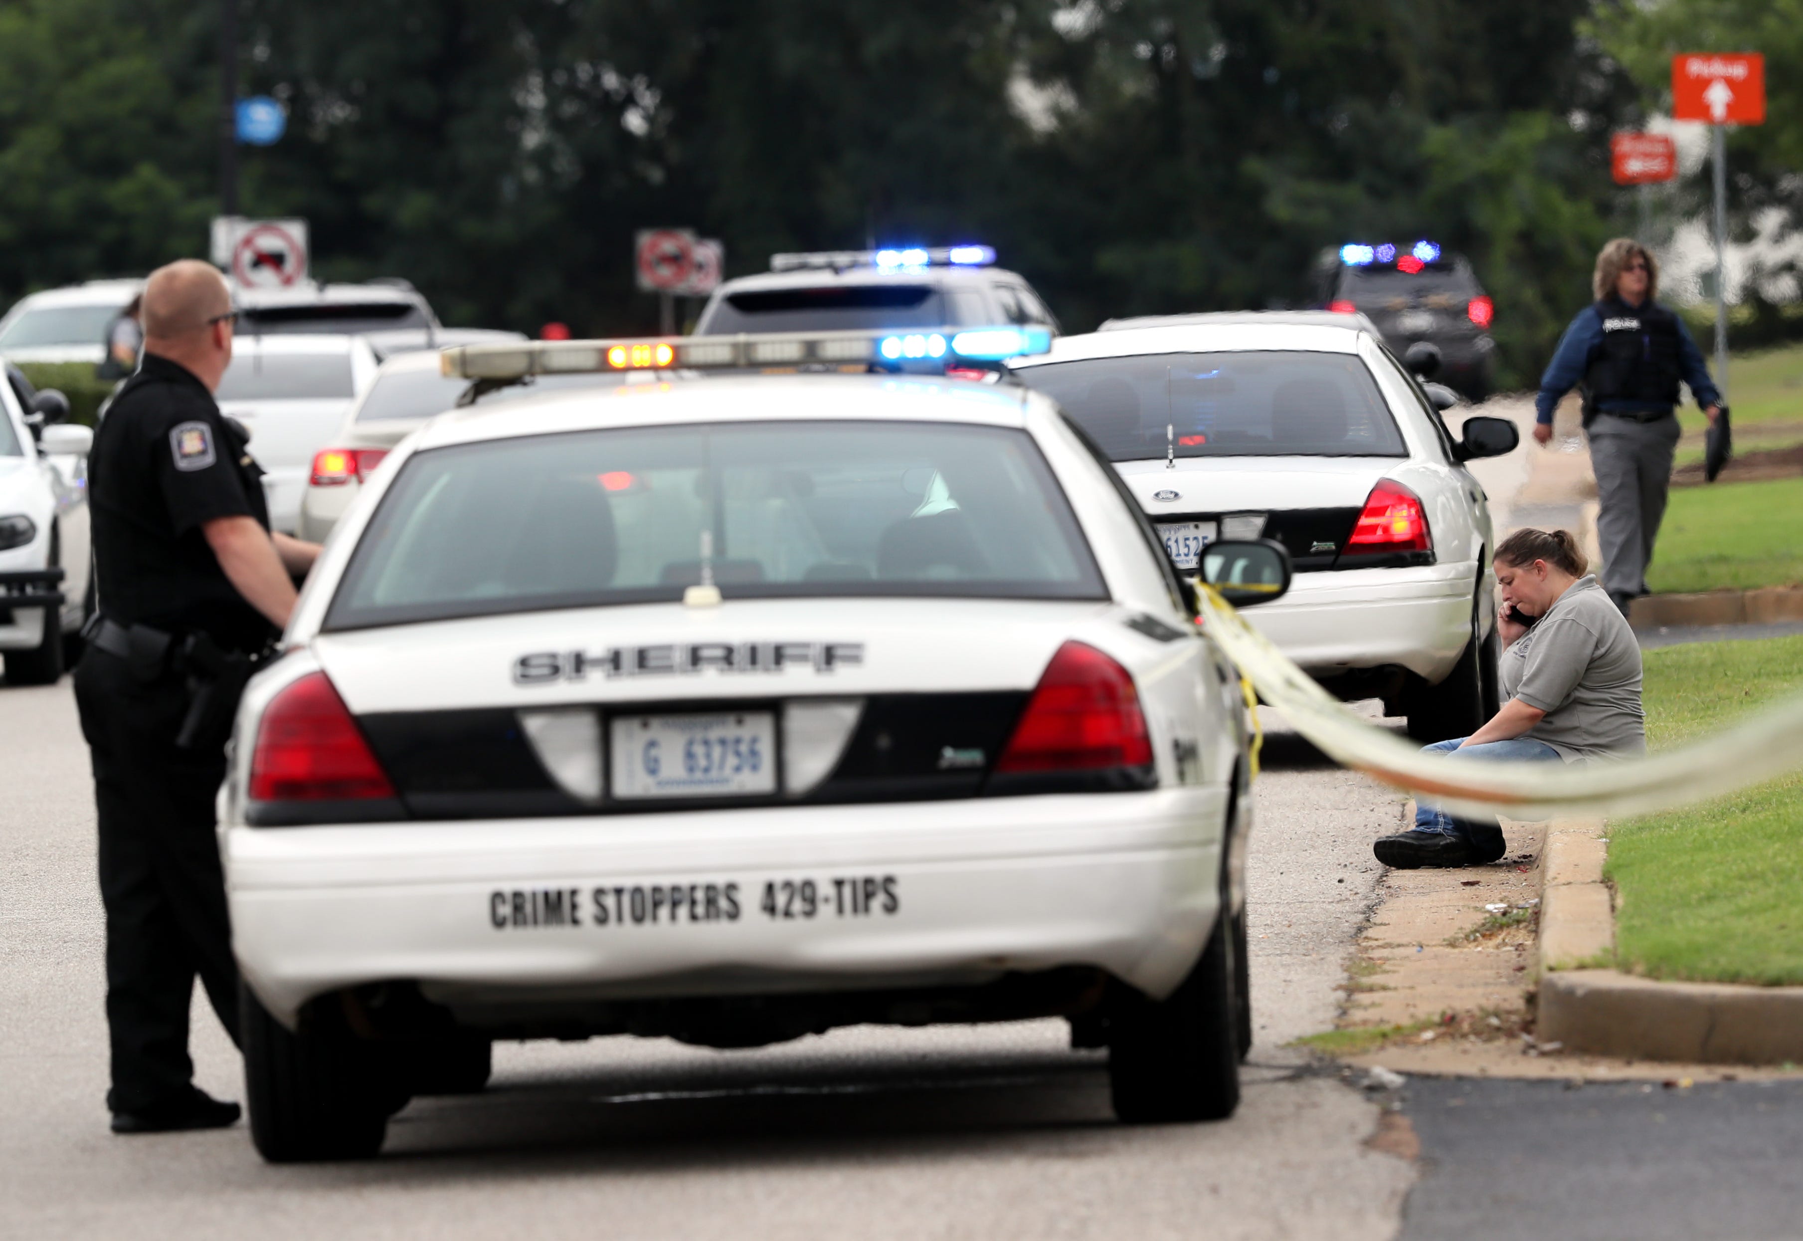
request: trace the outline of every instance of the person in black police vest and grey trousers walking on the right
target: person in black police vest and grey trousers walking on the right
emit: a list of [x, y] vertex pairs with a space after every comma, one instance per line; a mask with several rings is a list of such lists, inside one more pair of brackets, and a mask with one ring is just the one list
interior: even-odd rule
[[1552, 408], [1583, 384], [1583, 424], [1601, 510], [1603, 588], [1623, 615], [1646, 593], [1646, 566], [1666, 516], [1671, 455], [1679, 444], [1679, 381], [1715, 422], [1722, 395], [1684, 319], [1661, 307], [1659, 265], [1639, 242], [1617, 236], [1596, 256], [1596, 305], [1565, 328], [1540, 377], [1534, 438], [1552, 438]]

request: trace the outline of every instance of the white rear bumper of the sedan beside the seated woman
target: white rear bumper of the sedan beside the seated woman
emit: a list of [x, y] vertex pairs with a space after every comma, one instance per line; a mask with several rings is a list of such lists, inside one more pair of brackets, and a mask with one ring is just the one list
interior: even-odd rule
[[1473, 581], [1469, 563], [1296, 574], [1246, 619], [1311, 676], [1403, 667], [1439, 684], [1471, 637]]

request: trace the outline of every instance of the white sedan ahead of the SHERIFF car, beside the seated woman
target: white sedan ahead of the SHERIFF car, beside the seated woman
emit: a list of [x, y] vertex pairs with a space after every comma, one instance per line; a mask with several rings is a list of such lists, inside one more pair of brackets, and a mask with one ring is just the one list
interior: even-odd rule
[[1296, 583], [1255, 624], [1345, 700], [1383, 698], [1423, 741], [1495, 714], [1495, 534], [1464, 467], [1516, 446], [1473, 417], [1453, 440], [1359, 316], [1127, 319], [1011, 363], [1087, 431], [1179, 566], [1268, 538]]

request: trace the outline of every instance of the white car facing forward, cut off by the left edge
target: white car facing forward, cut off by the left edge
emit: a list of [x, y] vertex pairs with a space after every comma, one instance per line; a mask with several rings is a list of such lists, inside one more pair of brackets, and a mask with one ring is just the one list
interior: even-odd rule
[[85, 426], [38, 426], [11, 375], [0, 377], [0, 657], [14, 685], [63, 675], [65, 646], [94, 602], [83, 460], [92, 442]]

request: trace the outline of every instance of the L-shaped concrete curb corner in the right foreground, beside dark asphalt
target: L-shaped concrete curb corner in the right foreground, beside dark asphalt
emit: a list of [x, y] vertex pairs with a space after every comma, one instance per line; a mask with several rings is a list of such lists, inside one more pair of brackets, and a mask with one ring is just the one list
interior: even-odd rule
[[[1803, 592], [1799, 592], [1803, 593]], [[1540, 1043], [1644, 1061], [1803, 1061], [1803, 987], [1659, 983], [1587, 969], [1615, 945], [1601, 819], [1554, 819], [1540, 887]]]

